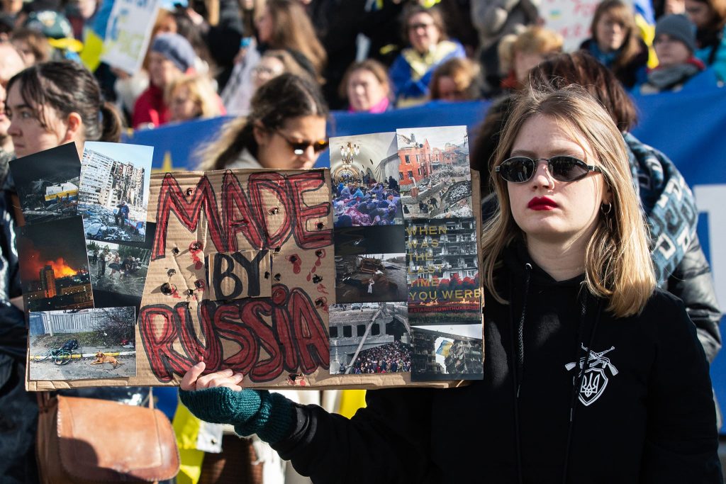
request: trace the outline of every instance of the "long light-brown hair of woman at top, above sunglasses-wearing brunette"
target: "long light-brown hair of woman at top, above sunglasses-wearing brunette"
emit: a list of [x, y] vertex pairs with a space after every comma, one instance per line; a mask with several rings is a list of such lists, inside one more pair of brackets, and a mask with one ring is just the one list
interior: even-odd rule
[[269, 46], [272, 49], [295, 49], [301, 52], [311, 62], [322, 81], [327, 53], [300, 1], [267, 0], [266, 7], [272, 20]]

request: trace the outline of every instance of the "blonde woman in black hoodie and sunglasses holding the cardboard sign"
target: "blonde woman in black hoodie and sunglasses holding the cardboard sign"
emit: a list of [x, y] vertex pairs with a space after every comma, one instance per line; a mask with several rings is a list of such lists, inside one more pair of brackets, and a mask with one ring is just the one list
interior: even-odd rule
[[[493, 166], [483, 380], [372, 390], [346, 419], [200, 362], [184, 405], [316, 483], [721, 483], [706, 357], [656, 288], [608, 112], [578, 86], [528, 90]], [[452, 445], [462, 432], [476, 445]]]

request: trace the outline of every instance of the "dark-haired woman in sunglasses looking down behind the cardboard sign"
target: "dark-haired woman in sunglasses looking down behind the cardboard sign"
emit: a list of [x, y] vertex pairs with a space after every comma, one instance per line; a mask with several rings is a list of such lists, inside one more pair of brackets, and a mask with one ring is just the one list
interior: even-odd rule
[[328, 109], [319, 87], [285, 73], [258, 89], [250, 114], [224, 127], [201, 152], [202, 170], [225, 168], [312, 168], [327, 148]]

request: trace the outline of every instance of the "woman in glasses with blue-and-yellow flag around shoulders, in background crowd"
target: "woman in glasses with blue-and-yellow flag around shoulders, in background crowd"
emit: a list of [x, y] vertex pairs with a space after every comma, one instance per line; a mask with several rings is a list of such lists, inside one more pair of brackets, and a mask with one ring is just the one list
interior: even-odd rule
[[437, 7], [409, 4], [404, 10], [404, 40], [411, 46], [393, 61], [388, 75], [397, 107], [423, 104], [436, 67], [455, 57], [466, 57], [464, 47], [446, 37], [444, 17]]

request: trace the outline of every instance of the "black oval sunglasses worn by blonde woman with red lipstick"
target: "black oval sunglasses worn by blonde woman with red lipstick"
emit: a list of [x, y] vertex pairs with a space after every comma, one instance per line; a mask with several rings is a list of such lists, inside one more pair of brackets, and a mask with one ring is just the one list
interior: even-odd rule
[[598, 166], [587, 165], [584, 161], [567, 155], [537, 158], [537, 160], [526, 156], [515, 156], [502, 161], [499, 166], [494, 167], [494, 171], [506, 181], [524, 183], [534, 176], [534, 172], [537, 171], [537, 163], [543, 160], [547, 162], [547, 171], [550, 172], [553, 179], [558, 181], [576, 181], [584, 179], [591, 171], [602, 172]]

